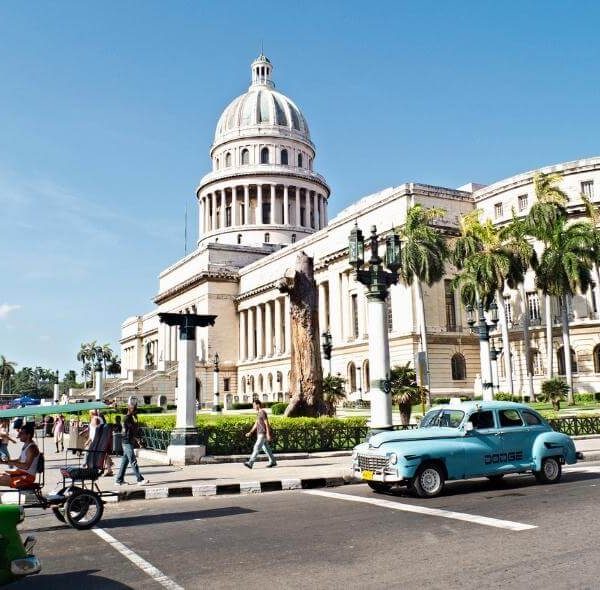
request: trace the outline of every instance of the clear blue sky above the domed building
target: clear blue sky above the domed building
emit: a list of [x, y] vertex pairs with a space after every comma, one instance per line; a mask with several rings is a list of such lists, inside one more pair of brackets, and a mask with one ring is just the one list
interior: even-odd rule
[[599, 155], [599, 26], [584, 1], [1, 3], [0, 354], [76, 368], [152, 308], [261, 42], [331, 216]]

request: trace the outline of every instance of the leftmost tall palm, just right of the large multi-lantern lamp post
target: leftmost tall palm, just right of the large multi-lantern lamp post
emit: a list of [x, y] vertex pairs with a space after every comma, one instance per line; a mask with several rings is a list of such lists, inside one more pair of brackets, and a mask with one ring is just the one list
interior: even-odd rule
[[[422, 283], [431, 287], [445, 274], [445, 263], [448, 258], [446, 241], [438, 228], [431, 223], [446, 214], [439, 207], [426, 208], [415, 204], [408, 209], [406, 222], [401, 230], [402, 251], [400, 272], [408, 285], [416, 290], [417, 323], [419, 326], [421, 351], [425, 353], [427, 373], [429, 376], [429, 358], [427, 352], [427, 322], [425, 318], [425, 300]], [[429, 383], [431, 391], [431, 383]], [[428, 397], [428, 403], [431, 399]]]

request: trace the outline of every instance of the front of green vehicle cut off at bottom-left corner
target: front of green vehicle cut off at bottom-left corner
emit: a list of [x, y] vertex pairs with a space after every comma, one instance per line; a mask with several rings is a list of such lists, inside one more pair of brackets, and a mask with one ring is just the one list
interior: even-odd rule
[[23, 541], [17, 531], [17, 524], [24, 519], [22, 506], [0, 505], [0, 585], [37, 574], [42, 569], [32, 553], [35, 537], [29, 536]]

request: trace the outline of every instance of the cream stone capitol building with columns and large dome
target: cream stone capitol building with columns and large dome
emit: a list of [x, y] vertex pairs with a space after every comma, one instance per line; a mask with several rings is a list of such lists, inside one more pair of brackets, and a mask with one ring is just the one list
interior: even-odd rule
[[[122, 325], [122, 379], [107, 396], [135, 394], [150, 403], [173, 399], [176, 391], [177, 334], [158, 322], [159, 312], [217, 316], [214, 327], [198, 328], [197, 398], [212, 403], [213, 358], [220, 358], [219, 390], [227, 403], [285, 399], [290, 375], [288, 296], [277, 283], [294, 267], [299, 252], [314, 258], [319, 287], [319, 326], [332, 335], [331, 371], [346, 379], [350, 399], [369, 398], [368, 336], [364, 287], [348, 264], [348, 236], [355, 223], [372, 225], [383, 241], [401, 227], [408, 208], [421, 203], [446, 211], [438, 221], [451, 238], [459, 219], [479, 208], [502, 224], [513, 210], [525, 215], [534, 200], [528, 172], [490, 186], [460, 189], [405, 183], [368, 195], [328, 218], [326, 180], [315, 172], [316, 148], [296, 104], [275, 90], [273, 65], [260, 55], [251, 65], [251, 85], [223, 111], [210, 149], [211, 171], [199, 183], [197, 248], [159, 275], [155, 309]], [[593, 199], [600, 183], [600, 158], [544, 169], [563, 174], [569, 210], [583, 214], [580, 193]], [[431, 288], [424, 286], [428, 359], [433, 395], [480, 393], [479, 342], [467, 327], [465, 311], [452, 290], [453, 269]], [[600, 390], [600, 321], [596, 293], [568, 302], [577, 390]], [[402, 283], [390, 290], [388, 332], [392, 365], [414, 362], [420, 350], [416, 290]], [[544, 310], [532, 275], [523, 288], [506, 290], [510, 321], [512, 381], [516, 393], [539, 390], [544, 378]], [[557, 305], [553, 302], [552, 305]], [[532, 355], [525, 361], [523, 315], [529, 319]], [[555, 316], [558, 316], [558, 311]], [[560, 327], [556, 318], [560, 370]], [[506, 351], [503, 352], [506, 354]], [[564, 363], [563, 363], [564, 365]], [[504, 363], [500, 389], [508, 390]], [[529, 369], [529, 371], [527, 370]], [[327, 362], [324, 370], [328, 371]], [[559, 371], [560, 372], [560, 371]], [[529, 377], [531, 374], [531, 377]]]

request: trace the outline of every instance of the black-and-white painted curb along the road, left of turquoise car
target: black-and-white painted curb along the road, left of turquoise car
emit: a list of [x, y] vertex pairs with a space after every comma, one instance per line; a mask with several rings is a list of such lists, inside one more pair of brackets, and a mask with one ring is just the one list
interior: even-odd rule
[[[241, 481], [228, 484], [192, 484], [189, 486], [156, 486], [132, 491], [119, 491], [117, 502], [127, 500], [159, 500], [165, 498], [252, 495], [287, 490], [333, 488], [360, 483], [352, 476], [288, 478], [271, 481]], [[115, 494], [117, 495], [117, 494]]]

